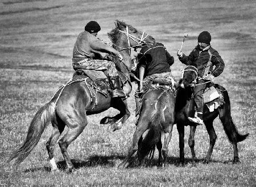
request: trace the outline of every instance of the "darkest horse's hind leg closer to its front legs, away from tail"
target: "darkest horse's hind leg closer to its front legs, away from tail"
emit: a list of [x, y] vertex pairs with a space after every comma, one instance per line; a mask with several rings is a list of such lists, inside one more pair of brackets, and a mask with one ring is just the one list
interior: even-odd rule
[[207, 156], [205, 157], [204, 162], [209, 163], [210, 162], [210, 156], [212, 156], [213, 147], [214, 147], [216, 139], [217, 139], [217, 135], [216, 135], [215, 130], [213, 128], [213, 121], [205, 122], [205, 127], [207, 128], [207, 132], [209, 134], [210, 147], [208, 149]]

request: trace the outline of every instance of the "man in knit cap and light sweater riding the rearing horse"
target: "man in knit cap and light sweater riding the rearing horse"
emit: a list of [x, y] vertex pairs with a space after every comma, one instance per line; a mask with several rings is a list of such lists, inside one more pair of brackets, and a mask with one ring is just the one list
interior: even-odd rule
[[73, 49], [73, 69], [100, 70], [108, 74], [112, 97], [126, 97], [120, 87], [119, 76], [114, 62], [102, 58], [100, 53], [108, 53], [117, 56], [120, 60], [122, 55], [109, 44], [106, 44], [96, 36], [101, 30], [100, 25], [90, 21], [85, 25], [85, 31], [77, 36]]

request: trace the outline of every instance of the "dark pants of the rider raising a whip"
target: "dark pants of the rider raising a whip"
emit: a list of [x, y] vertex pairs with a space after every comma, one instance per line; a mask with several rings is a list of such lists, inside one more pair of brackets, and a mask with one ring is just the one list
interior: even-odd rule
[[194, 87], [194, 98], [195, 98], [195, 103], [196, 103], [196, 112], [199, 114], [198, 117], [202, 116], [203, 117], [203, 109], [204, 109], [204, 103], [203, 103], [203, 92], [205, 90], [206, 84], [208, 80], [200, 79], [197, 80], [196, 84], [199, 84]]

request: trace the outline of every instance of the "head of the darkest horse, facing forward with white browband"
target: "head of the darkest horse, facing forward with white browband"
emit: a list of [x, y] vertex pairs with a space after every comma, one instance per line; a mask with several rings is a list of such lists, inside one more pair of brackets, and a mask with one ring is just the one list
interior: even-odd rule
[[183, 70], [183, 74], [180, 80], [180, 87], [186, 88], [193, 86], [196, 83], [197, 79], [197, 68], [195, 66], [187, 66]]

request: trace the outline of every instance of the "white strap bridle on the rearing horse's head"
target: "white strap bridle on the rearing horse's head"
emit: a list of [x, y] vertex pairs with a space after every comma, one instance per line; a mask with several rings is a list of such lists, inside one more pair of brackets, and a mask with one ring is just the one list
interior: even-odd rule
[[[138, 37], [131, 35], [128, 30], [129, 29], [128, 29], [127, 26], [126, 26], [126, 32], [122, 31], [122, 30], [119, 30], [119, 32], [122, 32], [127, 36], [127, 42], [128, 42], [128, 46], [129, 46], [128, 48], [122, 48], [121, 46], [113, 44], [113, 45], [117, 46], [118, 48], [121, 48], [121, 50], [119, 50], [119, 52], [122, 51], [122, 50], [125, 50], [125, 49], [137, 48], [138, 46], [141, 46], [141, 45], [145, 44], [144, 40], [146, 39], [148, 34], [146, 36], [144, 36], [145, 32], [143, 32], [142, 36], [141, 36], [141, 39], [139, 39]], [[131, 46], [130, 39], [132, 39], [133, 41], [136, 41], [138, 43], [138, 45]], [[131, 51], [130, 51], [130, 53], [131, 53]]]

